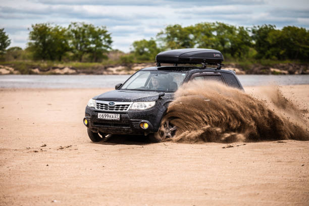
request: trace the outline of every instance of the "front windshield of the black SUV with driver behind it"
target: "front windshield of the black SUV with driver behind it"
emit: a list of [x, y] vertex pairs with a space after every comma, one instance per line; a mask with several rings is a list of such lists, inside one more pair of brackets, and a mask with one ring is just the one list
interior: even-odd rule
[[175, 92], [186, 74], [185, 71], [139, 71], [130, 77], [121, 89]]

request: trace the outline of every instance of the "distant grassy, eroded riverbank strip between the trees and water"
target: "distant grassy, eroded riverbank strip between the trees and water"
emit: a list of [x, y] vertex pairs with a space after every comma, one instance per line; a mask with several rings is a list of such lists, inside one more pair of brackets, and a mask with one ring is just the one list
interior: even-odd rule
[[[92, 66], [45, 66], [35, 64], [1, 64], [0, 75], [7, 74], [30, 74], [30, 75], [128, 75], [146, 68], [155, 67], [155, 63], [134, 63], [115, 65], [92, 65]], [[213, 67], [213, 66], [210, 66]], [[241, 66], [238, 64], [226, 64], [222, 69], [233, 70], [237, 75], [241, 74], [265, 74], [265, 75], [287, 75], [287, 74], [309, 74], [309, 64], [280, 63], [271, 66], [252, 64]]]

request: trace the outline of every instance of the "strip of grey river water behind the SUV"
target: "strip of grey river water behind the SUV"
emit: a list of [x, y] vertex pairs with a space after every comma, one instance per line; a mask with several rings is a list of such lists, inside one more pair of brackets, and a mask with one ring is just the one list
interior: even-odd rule
[[[113, 88], [130, 75], [0, 75], [0, 88]], [[309, 75], [238, 75], [243, 86], [309, 84]]]

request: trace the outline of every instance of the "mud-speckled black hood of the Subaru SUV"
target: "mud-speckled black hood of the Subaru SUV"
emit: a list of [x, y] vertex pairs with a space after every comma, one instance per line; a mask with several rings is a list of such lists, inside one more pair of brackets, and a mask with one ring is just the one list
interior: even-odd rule
[[[106, 101], [155, 101], [160, 92], [137, 90], [113, 90], [93, 97], [96, 100]], [[173, 93], [166, 93], [166, 97], [172, 97]]]

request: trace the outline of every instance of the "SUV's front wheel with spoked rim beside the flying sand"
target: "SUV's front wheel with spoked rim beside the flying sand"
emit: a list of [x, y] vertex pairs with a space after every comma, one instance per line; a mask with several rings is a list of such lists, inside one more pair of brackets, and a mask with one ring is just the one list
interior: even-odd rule
[[163, 140], [173, 138], [176, 135], [177, 128], [176, 126], [172, 125], [169, 120], [165, 120], [161, 123], [159, 131], [157, 133], [149, 134], [149, 140], [151, 142], [161, 142]]

